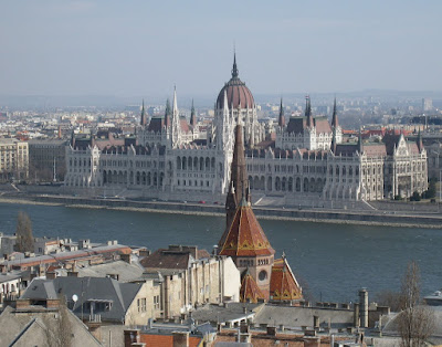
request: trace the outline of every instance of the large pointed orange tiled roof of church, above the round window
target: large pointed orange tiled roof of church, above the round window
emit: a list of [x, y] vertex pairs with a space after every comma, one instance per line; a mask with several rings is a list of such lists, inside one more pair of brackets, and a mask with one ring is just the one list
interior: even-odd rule
[[221, 245], [220, 255], [256, 256], [272, 254], [275, 254], [275, 251], [265, 236], [252, 208], [243, 199], [236, 209], [225, 241]]

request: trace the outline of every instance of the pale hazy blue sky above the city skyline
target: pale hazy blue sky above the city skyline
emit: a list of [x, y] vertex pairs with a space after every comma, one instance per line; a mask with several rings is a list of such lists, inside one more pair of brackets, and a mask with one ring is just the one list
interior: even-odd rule
[[2, 1], [0, 95], [442, 91], [442, 1]]

